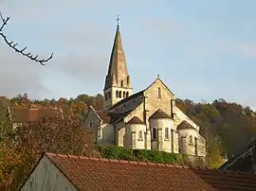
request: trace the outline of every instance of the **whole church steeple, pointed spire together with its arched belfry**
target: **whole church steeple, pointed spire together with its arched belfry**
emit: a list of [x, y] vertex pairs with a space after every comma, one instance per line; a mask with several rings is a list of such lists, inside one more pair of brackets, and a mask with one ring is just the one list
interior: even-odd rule
[[112, 47], [108, 72], [105, 79], [105, 86], [103, 90], [105, 96], [105, 103], [110, 107], [122, 98], [130, 96], [132, 93], [131, 81], [127, 70], [127, 64], [125, 60], [123, 47], [121, 44], [119, 16], [117, 22], [118, 24], [115, 40]]

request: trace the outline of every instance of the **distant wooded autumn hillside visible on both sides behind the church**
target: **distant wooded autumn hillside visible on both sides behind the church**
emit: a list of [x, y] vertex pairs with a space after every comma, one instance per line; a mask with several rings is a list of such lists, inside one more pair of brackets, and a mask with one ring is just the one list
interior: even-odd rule
[[[35, 108], [61, 107], [64, 113], [83, 120], [89, 106], [94, 106], [97, 110], [102, 109], [103, 96], [80, 95], [70, 99], [62, 97], [59, 100], [29, 100], [27, 95], [10, 99], [0, 97], [2, 107], [28, 105]], [[222, 154], [227, 153], [228, 157], [239, 153], [256, 134], [255, 113], [249, 107], [238, 103], [224, 99], [215, 99], [212, 103], [194, 103], [190, 99], [176, 99], [176, 105], [201, 127], [203, 136], [218, 139], [221, 142]]]

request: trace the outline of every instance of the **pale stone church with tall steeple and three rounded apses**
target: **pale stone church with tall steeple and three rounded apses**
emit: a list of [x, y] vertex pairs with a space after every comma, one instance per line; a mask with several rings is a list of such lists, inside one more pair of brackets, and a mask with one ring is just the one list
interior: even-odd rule
[[103, 94], [103, 111], [90, 107], [85, 116], [85, 125], [97, 131], [97, 144], [206, 156], [200, 127], [175, 106], [174, 93], [159, 76], [133, 94], [119, 24]]

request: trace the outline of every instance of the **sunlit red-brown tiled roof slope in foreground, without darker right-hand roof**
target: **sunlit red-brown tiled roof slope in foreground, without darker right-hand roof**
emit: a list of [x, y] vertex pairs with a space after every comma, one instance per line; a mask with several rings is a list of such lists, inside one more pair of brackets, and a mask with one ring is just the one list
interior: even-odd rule
[[46, 153], [78, 190], [216, 190], [189, 167]]

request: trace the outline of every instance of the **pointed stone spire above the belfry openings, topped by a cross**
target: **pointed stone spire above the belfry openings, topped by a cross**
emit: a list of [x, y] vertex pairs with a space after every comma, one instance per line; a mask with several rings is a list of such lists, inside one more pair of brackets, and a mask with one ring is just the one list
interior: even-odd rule
[[117, 31], [115, 35], [115, 41], [113, 44], [108, 72], [105, 80], [104, 90], [116, 86], [131, 88], [131, 83], [128, 75], [127, 64], [125, 55], [121, 43], [120, 31], [119, 31], [119, 16], [117, 19]]

